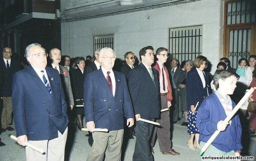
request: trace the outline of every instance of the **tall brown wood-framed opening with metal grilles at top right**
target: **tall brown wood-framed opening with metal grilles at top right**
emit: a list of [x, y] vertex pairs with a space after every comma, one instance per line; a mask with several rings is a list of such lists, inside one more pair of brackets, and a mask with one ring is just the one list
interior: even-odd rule
[[232, 68], [238, 60], [255, 55], [256, 1], [230, 0], [224, 2], [223, 57]]

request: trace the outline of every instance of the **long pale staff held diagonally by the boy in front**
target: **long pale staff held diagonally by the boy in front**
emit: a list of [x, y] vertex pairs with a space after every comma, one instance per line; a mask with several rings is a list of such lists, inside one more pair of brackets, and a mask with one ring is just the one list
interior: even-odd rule
[[[252, 94], [254, 91], [253, 88], [251, 88], [245, 95], [244, 97], [238, 102], [238, 104], [234, 107], [234, 109], [231, 111], [231, 113], [226, 117], [224, 122], [229, 122], [232, 117], [237, 113], [239, 110], [240, 106], [247, 100], [247, 98]], [[199, 154], [202, 156], [205, 150], [210, 146], [210, 144], [215, 140], [215, 138], [219, 135], [220, 131], [216, 130], [214, 134], [210, 137], [210, 139], [206, 142], [206, 144], [203, 146]]]

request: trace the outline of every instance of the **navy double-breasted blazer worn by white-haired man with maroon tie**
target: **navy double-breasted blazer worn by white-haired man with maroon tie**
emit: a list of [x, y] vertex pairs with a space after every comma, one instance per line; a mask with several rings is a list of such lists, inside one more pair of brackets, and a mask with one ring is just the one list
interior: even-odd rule
[[94, 121], [95, 128], [119, 130], [124, 125], [123, 115], [134, 118], [125, 76], [117, 71], [114, 75], [115, 97], [101, 69], [88, 73], [84, 80], [84, 114], [86, 122]]

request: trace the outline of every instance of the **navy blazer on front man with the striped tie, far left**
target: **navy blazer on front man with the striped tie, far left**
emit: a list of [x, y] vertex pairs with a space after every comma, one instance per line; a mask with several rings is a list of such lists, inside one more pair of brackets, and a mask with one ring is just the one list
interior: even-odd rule
[[50, 140], [68, 126], [67, 104], [57, 70], [46, 68], [52, 95], [33, 67], [13, 76], [12, 103], [16, 135], [29, 140]]

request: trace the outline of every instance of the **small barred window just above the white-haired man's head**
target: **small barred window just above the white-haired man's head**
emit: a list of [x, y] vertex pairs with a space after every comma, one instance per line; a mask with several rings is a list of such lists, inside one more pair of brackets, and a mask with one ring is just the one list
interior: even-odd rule
[[103, 47], [110, 47], [114, 49], [114, 34], [113, 35], [102, 35], [94, 36], [94, 51]]

